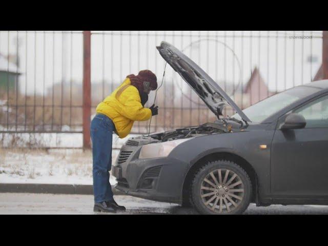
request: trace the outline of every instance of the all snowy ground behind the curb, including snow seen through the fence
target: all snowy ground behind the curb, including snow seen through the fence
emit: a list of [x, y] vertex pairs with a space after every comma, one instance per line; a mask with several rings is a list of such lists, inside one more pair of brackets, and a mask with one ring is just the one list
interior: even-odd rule
[[[0, 182], [11, 183], [59, 183], [92, 185], [92, 153], [82, 149], [51, 149], [51, 147], [80, 148], [82, 142], [78, 133], [34, 134], [33, 138], [50, 149], [9, 148], [0, 149]], [[129, 137], [137, 135], [130, 134]], [[13, 135], [3, 136], [3, 145], [8, 147]], [[80, 139], [81, 138], [81, 139]], [[28, 133], [20, 134], [22, 147], [30, 141]], [[113, 135], [112, 163], [119, 149], [127, 141]], [[110, 183], [116, 180], [110, 176]]]

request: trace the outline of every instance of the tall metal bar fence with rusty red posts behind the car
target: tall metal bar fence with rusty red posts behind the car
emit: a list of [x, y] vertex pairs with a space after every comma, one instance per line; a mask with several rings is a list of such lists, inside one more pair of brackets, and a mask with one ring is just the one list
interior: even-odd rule
[[[156, 46], [162, 40], [191, 57], [245, 108], [326, 78], [323, 36], [326, 32], [0, 31], [0, 140], [17, 133], [74, 133], [83, 134], [88, 147], [95, 107], [127, 75], [150, 69], [161, 81], [165, 61]], [[151, 93], [146, 107], [153, 100]], [[151, 132], [215, 120], [170, 66], [156, 104]], [[146, 133], [148, 125], [135, 122], [132, 133]]]

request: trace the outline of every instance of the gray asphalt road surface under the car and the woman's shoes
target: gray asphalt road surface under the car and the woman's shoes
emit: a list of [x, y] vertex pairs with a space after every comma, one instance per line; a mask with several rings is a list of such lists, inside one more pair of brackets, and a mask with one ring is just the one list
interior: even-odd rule
[[[177, 204], [149, 201], [131, 196], [115, 196], [126, 206], [121, 214], [196, 214]], [[0, 193], [0, 214], [98, 214], [93, 212], [91, 195], [54, 195], [30, 193]], [[101, 213], [105, 214], [105, 213]], [[256, 207], [250, 204], [245, 214], [328, 214], [328, 206]]]

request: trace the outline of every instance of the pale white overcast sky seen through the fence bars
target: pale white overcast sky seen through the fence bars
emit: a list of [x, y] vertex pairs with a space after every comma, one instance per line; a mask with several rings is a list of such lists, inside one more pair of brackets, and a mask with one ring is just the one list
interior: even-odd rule
[[[191, 57], [223, 87], [223, 81], [245, 85], [255, 66], [271, 90], [308, 83], [321, 65], [321, 31], [94, 31], [92, 34], [92, 83], [105, 79], [120, 83], [128, 74], [150, 69], [161, 79], [164, 60], [156, 46], [165, 40]], [[286, 34], [286, 35], [285, 35]], [[313, 36], [294, 39], [290, 36]], [[225, 37], [224, 37], [225, 36]], [[268, 38], [268, 36], [270, 36]], [[204, 40], [210, 38], [211, 40]], [[201, 40], [198, 42], [197, 40]], [[193, 43], [192, 46], [190, 44]], [[81, 32], [0, 31], [0, 53], [20, 58], [20, 91], [43, 93], [53, 83], [83, 77]], [[229, 47], [229, 48], [228, 48]], [[231, 51], [233, 50], [233, 52]], [[309, 61], [312, 56], [313, 62]], [[239, 63], [238, 63], [239, 61]], [[238, 66], [240, 64], [240, 66]], [[241, 75], [241, 76], [240, 76]], [[181, 83], [167, 67], [166, 83]], [[26, 82], [27, 81], [27, 82]], [[35, 85], [34, 85], [35, 81]], [[183, 90], [188, 87], [185, 84]]]

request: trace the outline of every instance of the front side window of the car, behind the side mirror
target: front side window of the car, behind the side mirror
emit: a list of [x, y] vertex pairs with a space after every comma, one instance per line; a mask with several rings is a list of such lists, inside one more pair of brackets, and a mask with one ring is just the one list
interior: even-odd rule
[[328, 127], [328, 95], [295, 110], [306, 120], [305, 128]]

